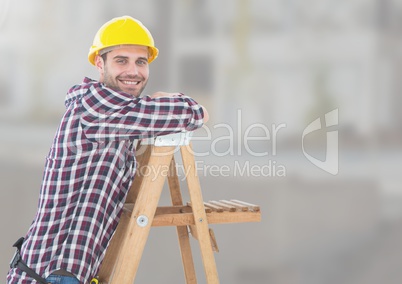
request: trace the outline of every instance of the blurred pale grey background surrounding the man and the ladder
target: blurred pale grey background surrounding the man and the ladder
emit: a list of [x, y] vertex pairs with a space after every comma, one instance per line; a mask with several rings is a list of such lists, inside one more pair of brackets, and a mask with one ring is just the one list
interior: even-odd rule
[[[87, 52], [122, 15], [141, 20], [160, 49], [146, 94], [183, 92], [210, 112], [194, 141], [207, 153], [197, 157], [204, 199], [261, 206], [261, 223], [212, 226], [221, 283], [400, 283], [398, 0], [0, 0], [0, 274], [34, 218], [64, 96], [98, 78]], [[338, 124], [326, 129], [332, 110]], [[325, 162], [327, 131], [338, 133], [335, 175], [304, 155], [316, 119], [322, 129], [304, 150]], [[173, 228], [151, 230], [137, 280], [184, 283]]]

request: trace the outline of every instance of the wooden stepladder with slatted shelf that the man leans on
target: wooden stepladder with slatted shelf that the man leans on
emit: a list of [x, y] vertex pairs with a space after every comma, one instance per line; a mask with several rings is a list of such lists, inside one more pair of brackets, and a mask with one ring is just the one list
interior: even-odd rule
[[[180, 148], [191, 202], [183, 204], [174, 153]], [[100, 283], [133, 283], [151, 226], [176, 226], [186, 283], [197, 283], [189, 234], [200, 246], [208, 284], [219, 283], [208, 224], [259, 222], [260, 207], [239, 200], [204, 202], [190, 132], [142, 140], [137, 172], [123, 214], [99, 271]], [[172, 206], [158, 207], [166, 177]], [[190, 232], [190, 233], [189, 233]]]

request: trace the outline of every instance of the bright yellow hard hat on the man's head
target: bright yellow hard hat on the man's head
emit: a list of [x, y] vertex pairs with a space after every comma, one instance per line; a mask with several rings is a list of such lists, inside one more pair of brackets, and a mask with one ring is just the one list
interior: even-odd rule
[[149, 30], [138, 20], [123, 16], [105, 23], [96, 33], [89, 49], [88, 60], [95, 65], [95, 56], [104, 48], [118, 45], [143, 45], [149, 49], [148, 62], [151, 63], [159, 53]]

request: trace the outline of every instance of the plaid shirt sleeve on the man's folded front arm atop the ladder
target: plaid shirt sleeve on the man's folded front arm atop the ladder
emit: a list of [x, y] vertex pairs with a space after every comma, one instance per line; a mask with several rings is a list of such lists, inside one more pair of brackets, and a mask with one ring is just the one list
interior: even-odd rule
[[201, 105], [183, 94], [135, 98], [96, 83], [82, 97], [80, 122], [88, 139], [120, 140], [193, 131], [203, 117]]

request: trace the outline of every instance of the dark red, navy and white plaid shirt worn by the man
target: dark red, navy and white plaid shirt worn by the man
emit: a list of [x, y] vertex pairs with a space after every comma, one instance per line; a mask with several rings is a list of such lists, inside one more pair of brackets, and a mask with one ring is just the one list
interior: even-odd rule
[[[46, 278], [58, 269], [81, 283], [96, 276], [136, 170], [134, 139], [202, 126], [191, 98], [135, 98], [88, 78], [67, 93], [46, 158], [36, 217], [22, 259]], [[11, 269], [8, 283], [35, 283]]]

